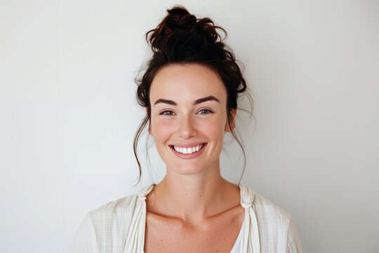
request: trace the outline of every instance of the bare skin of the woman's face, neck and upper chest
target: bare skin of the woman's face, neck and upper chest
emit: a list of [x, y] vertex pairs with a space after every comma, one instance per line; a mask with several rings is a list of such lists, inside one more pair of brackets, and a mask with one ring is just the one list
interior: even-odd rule
[[[204, 65], [168, 65], [149, 96], [149, 134], [166, 176], [147, 195], [145, 252], [230, 252], [244, 208], [239, 188], [220, 175], [223, 138], [231, 131], [224, 84]], [[199, 144], [197, 155], [172, 148]]]

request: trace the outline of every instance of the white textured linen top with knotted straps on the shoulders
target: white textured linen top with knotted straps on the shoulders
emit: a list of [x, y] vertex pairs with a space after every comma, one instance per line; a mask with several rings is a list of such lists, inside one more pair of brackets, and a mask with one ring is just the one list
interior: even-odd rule
[[[71, 253], [143, 253], [146, 195], [131, 195], [89, 212], [81, 224]], [[291, 216], [283, 209], [239, 184], [245, 219], [232, 253], [301, 253], [300, 238]]]

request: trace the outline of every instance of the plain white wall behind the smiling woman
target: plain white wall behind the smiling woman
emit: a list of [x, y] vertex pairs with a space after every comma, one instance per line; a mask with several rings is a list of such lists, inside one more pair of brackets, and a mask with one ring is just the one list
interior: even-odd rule
[[[67, 252], [87, 212], [151, 183], [143, 160], [133, 187], [133, 79], [173, 4], [225, 27], [245, 65], [243, 182], [291, 213], [306, 252], [379, 252], [375, 0], [1, 0], [0, 252]], [[222, 154], [234, 182], [235, 147]]]

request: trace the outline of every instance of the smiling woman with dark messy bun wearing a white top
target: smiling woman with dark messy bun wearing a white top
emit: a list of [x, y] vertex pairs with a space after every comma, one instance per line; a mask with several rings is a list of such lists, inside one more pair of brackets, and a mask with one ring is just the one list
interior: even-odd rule
[[153, 56], [137, 91], [147, 115], [134, 150], [138, 161], [147, 126], [166, 176], [90, 212], [72, 252], [302, 252], [291, 216], [220, 175], [225, 132], [239, 143], [234, 119], [246, 82], [218, 29], [174, 7], [147, 32]]

